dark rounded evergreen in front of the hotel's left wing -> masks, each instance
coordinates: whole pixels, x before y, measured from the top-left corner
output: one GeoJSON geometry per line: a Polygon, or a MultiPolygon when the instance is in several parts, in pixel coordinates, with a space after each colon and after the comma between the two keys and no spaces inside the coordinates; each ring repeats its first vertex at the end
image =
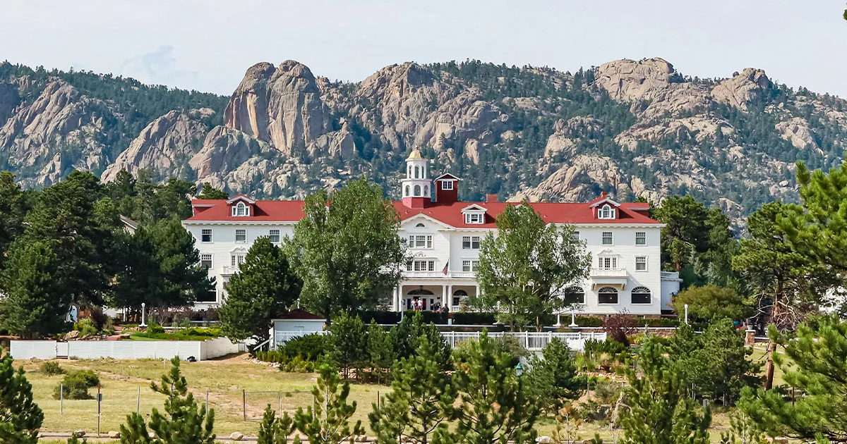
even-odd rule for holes
{"type": "Polygon", "coordinates": [[[224,335],[232,340],[252,337],[257,343],[265,342],[271,319],[294,304],[301,287],[283,251],[270,239],[258,238],[238,273],[230,277],[229,296],[218,311],[224,335]]]}

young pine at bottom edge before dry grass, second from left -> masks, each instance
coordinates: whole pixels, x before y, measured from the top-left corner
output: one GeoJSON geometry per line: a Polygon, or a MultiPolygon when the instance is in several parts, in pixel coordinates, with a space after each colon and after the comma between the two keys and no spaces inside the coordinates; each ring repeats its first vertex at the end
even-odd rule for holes
{"type": "Polygon", "coordinates": [[[165,396],[164,414],[153,408],[150,422],[145,424],[141,414],[127,415],[120,426],[121,444],[214,444],[214,410],[197,405],[188,390],[188,382],[180,372],[180,359],[171,359],[170,371],[162,375],[162,383],[152,382],[153,392],[165,396]],[[149,430],[158,438],[151,439],[149,430]]]}

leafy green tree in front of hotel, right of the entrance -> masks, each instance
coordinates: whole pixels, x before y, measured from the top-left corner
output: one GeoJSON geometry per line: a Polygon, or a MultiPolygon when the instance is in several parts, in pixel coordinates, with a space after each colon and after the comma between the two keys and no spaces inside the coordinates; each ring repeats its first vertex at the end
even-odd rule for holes
{"type": "Polygon", "coordinates": [[[543,315],[567,307],[566,288],[588,276],[590,255],[573,227],[547,224],[529,204],[506,206],[496,224],[497,236],[489,233],[479,246],[482,294],[470,304],[512,328],[540,331],[543,315]]]}

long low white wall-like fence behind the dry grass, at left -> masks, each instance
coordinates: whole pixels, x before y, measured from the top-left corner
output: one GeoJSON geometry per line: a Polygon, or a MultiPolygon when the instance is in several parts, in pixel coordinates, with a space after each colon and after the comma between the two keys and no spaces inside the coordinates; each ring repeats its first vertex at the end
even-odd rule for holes
{"type": "Polygon", "coordinates": [[[206,341],[12,341],[14,359],[56,359],[68,356],[75,359],[213,359],[240,351],[237,343],[225,337],[206,341]],[[67,350],[67,351],[65,351],[67,350]]]}

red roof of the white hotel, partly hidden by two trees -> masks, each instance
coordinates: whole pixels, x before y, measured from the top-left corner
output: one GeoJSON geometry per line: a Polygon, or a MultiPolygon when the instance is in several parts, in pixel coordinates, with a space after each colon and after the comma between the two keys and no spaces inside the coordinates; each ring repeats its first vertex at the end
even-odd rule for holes
{"type": "MultiPolygon", "coordinates": [[[[592,200],[594,202],[596,200],[592,200]]],[[[303,217],[302,200],[257,200],[249,217],[234,217],[226,200],[191,200],[194,206],[194,216],[186,219],[188,222],[297,222],[303,217]]],[[[541,215],[545,222],[552,223],[603,223],[603,224],[658,224],[646,214],[646,204],[622,203],[617,208],[617,218],[597,219],[588,203],[529,203],[541,215]]],[[[401,220],[416,217],[419,214],[432,217],[451,227],[493,228],[497,215],[508,205],[518,205],[513,202],[453,202],[439,204],[429,203],[424,208],[408,208],[402,201],[394,201],[394,207],[401,220]],[[462,208],[477,205],[485,208],[485,223],[465,223],[462,208]]]]}

